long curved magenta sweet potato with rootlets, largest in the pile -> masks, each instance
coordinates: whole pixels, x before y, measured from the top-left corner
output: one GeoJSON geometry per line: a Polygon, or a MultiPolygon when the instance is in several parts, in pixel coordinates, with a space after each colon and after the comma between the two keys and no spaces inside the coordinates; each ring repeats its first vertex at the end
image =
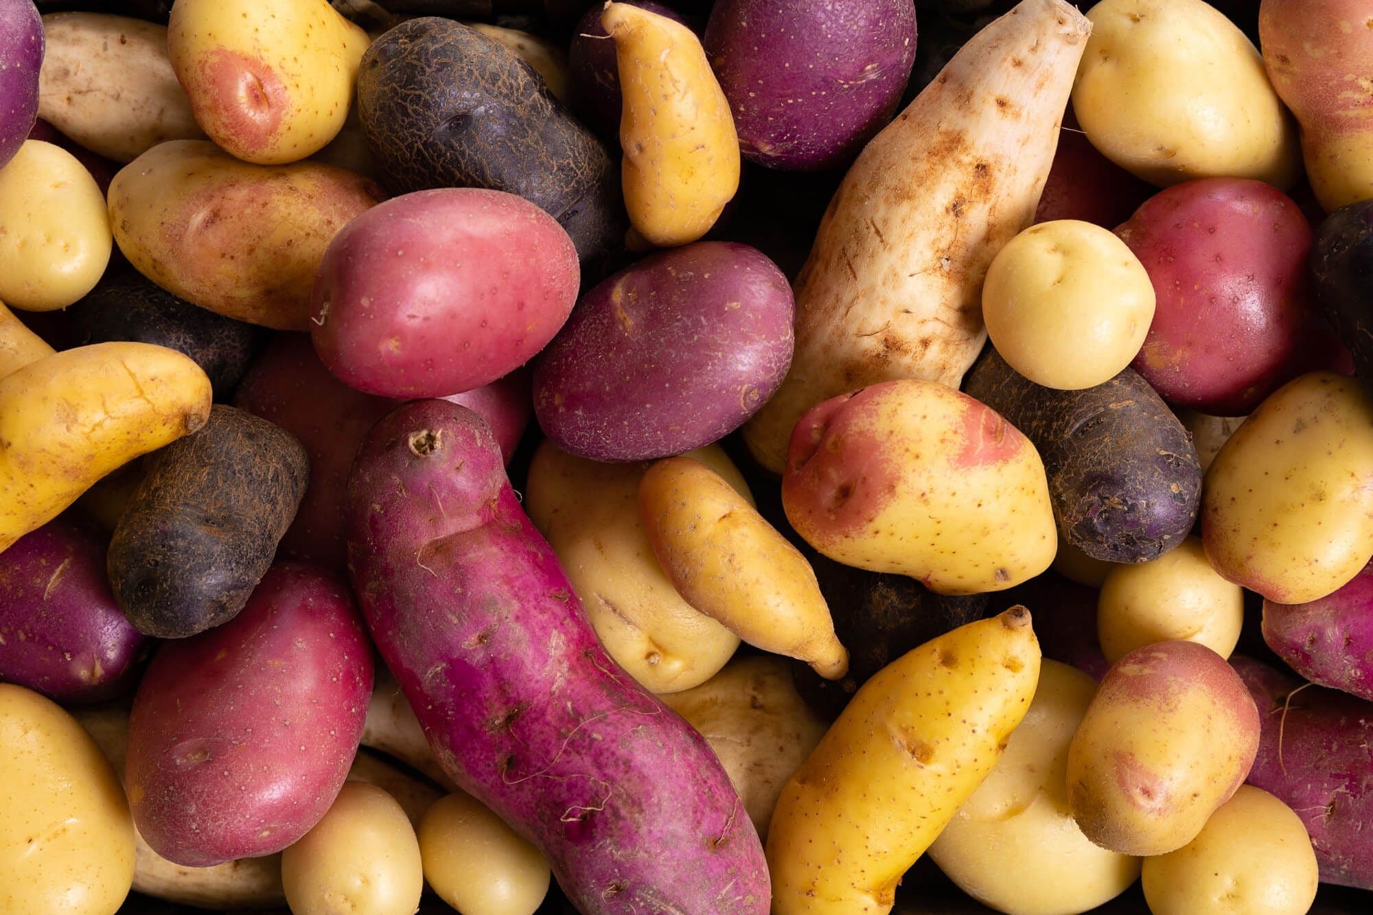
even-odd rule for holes
{"type": "Polygon", "coordinates": [[[729,778],[605,654],[476,414],[428,400],[376,425],[349,563],[439,765],[544,849],[579,911],[768,912],[729,778]]]}

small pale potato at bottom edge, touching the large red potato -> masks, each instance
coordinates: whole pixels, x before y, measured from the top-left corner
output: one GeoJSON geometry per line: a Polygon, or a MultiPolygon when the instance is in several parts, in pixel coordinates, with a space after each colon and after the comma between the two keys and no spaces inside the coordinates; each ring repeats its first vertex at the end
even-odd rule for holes
{"type": "Polygon", "coordinates": [[[424,892],[405,811],[365,782],[345,782],[328,813],[281,852],[291,915],[413,915],[424,892]]]}

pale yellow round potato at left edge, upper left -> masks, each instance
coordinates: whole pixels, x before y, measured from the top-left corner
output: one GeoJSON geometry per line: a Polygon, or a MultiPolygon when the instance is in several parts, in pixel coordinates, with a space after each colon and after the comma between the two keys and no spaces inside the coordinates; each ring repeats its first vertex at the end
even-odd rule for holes
{"type": "Polygon", "coordinates": [[[110,262],[104,195],[66,150],[25,140],[0,169],[0,300],[51,312],[95,289],[110,262]]]}

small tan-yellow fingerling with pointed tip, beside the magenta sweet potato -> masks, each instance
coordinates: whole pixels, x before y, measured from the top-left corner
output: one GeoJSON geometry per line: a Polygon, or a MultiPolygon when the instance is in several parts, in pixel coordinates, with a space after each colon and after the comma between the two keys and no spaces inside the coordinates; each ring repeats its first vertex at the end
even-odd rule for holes
{"type": "Polygon", "coordinates": [[[648,543],[677,592],[751,646],[849,672],[829,605],[800,551],[706,464],[669,458],[638,482],[648,543]]]}

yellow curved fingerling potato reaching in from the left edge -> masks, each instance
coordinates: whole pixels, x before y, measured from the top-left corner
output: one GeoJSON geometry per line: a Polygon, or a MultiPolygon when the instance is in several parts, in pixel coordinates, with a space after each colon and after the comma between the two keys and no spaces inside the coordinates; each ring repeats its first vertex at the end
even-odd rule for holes
{"type": "Polygon", "coordinates": [[[210,397],[199,365],[150,343],[78,346],[0,378],[0,551],[203,426],[210,397]]]}

